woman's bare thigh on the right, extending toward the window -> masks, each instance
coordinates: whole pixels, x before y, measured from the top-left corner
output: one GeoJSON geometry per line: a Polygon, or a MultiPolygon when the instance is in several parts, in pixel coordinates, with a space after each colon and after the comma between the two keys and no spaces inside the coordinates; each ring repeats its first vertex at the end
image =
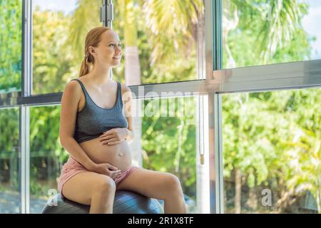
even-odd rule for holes
{"type": "Polygon", "coordinates": [[[117,190],[138,192],[146,197],[164,199],[173,191],[181,192],[178,177],[168,172],[138,168],[117,186],[117,190]]]}

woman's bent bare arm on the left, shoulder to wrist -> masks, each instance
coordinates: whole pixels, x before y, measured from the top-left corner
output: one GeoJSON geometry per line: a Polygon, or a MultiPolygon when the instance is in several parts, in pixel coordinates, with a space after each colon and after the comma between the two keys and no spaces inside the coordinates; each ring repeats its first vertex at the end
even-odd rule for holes
{"type": "Polygon", "coordinates": [[[60,115],[60,143],[77,162],[87,170],[94,170],[96,163],[93,162],[78,142],[73,138],[76,125],[78,103],[81,98],[81,86],[76,81],[70,81],[61,98],[60,115]]]}

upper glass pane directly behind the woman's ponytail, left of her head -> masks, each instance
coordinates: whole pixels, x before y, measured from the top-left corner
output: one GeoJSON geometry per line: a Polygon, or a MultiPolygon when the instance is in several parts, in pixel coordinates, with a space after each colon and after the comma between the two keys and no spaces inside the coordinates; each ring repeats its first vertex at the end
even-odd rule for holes
{"type": "Polygon", "coordinates": [[[61,92],[78,77],[86,33],[102,26],[101,2],[33,1],[33,94],[61,92]]]}

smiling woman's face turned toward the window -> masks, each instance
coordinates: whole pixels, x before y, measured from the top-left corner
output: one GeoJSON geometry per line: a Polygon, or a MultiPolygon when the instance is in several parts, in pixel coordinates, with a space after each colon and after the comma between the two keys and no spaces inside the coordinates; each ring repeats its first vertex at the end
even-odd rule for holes
{"type": "Polygon", "coordinates": [[[118,66],[121,63],[121,41],[119,40],[118,34],[109,30],[101,35],[101,41],[95,50],[95,63],[118,66]]]}

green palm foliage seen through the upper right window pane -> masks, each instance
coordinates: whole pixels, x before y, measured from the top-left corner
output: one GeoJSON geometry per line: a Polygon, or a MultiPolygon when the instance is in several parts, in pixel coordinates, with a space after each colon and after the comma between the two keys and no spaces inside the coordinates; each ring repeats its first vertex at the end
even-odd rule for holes
{"type": "MultiPolygon", "coordinates": [[[[237,28],[228,33],[228,48],[237,67],[302,61],[310,58],[312,37],[302,28],[307,4],[297,1],[231,1],[230,11],[239,15],[237,28]],[[265,9],[266,8],[266,9],[265,9]],[[265,9],[265,10],[263,10],[265,9]],[[264,19],[265,11],[271,19],[264,19]],[[290,21],[288,21],[290,20],[290,21]]],[[[228,63],[223,51],[223,68],[228,63]]]]}

